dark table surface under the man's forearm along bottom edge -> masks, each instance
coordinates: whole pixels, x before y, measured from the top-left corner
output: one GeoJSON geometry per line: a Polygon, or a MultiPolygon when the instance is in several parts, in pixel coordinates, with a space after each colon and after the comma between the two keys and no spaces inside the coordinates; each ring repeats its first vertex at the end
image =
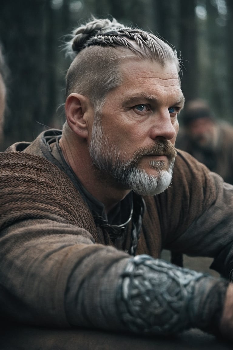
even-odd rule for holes
{"type": "Polygon", "coordinates": [[[176,337],[145,337],[80,329],[1,328],[1,350],[232,350],[225,342],[197,329],[176,337]]]}

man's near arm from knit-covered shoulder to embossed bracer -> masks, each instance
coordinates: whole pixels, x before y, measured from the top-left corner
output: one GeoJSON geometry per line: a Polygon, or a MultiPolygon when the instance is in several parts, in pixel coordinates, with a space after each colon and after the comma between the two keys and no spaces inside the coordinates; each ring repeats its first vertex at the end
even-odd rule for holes
{"type": "Polygon", "coordinates": [[[225,281],[96,244],[65,174],[36,156],[32,167],[28,155],[17,157],[10,169],[9,158],[1,163],[2,317],[155,334],[218,329],[225,281]]]}

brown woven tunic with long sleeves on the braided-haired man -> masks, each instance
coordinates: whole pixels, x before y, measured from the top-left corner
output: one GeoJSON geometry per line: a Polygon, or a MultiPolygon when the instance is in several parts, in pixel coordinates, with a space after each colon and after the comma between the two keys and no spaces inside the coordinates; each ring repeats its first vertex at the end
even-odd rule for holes
{"type": "MultiPolygon", "coordinates": [[[[41,149],[16,149],[0,153],[3,317],[63,326],[73,317],[88,327],[122,329],[115,293],[129,259],[125,247],[106,245],[73,183],[41,149]]],[[[232,186],[178,152],[171,186],[144,199],[137,254],[156,258],[165,247],[211,256],[228,275],[233,259],[222,252],[233,240],[232,186]]]]}

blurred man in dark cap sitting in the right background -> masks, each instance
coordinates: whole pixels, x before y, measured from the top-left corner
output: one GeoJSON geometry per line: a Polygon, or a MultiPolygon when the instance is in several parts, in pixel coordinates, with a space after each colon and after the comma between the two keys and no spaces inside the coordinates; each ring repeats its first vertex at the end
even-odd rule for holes
{"type": "Polygon", "coordinates": [[[225,182],[233,184],[233,127],[219,123],[205,100],[191,100],[184,111],[176,147],[190,153],[225,182]]]}

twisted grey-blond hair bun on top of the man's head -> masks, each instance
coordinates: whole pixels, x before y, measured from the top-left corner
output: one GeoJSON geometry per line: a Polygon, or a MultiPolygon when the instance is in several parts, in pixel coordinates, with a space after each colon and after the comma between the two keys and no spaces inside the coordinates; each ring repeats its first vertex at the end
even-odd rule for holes
{"type": "Polygon", "coordinates": [[[112,21],[108,19],[95,19],[80,26],[73,31],[72,39],[67,44],[68,54],[75,52],[78,54],[85,47],[85,43],[93,36],[101,35],[110,31],[118,31],[125,28],[121,23],[118,23],[115,18],[112,21]]]}

